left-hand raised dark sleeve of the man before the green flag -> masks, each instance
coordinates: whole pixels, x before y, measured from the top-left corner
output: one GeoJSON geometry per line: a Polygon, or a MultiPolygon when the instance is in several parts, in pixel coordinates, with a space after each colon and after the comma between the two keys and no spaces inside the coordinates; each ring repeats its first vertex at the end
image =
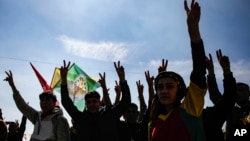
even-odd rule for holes
{"type": "Polygon", "coordinates": [[[72,100],[69,97],[69,91],[67,85],[61,85],[61,101],[65,110],[69,113],[71,118],[79,122],[81,118],[81,112],[78,111],[76,106],[73,104],[72,100]]]}

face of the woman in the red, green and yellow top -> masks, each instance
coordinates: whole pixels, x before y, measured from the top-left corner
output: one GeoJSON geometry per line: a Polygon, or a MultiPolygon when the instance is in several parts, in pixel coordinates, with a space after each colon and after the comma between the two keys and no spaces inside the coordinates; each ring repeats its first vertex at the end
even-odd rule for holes
{"type": "Polygon", "coordinates": [[[177,99],[178,84],[175,79],[161,78],[157,84],[157,96],[161,104],[172,105],[177,99]]]}

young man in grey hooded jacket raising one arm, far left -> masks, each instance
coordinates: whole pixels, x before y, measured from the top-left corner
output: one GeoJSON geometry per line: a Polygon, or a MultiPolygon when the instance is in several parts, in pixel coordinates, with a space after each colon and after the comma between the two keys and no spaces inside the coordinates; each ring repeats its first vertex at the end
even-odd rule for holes
{"type": "Polygon", "coordinates": [[[68,121],[63,116],[62,109],[56,106],[57,98],[53,92],[42,92],[39,95],[41,111],[35,110],[24,101],[17,90],[12,72],[5,73],[7,77],[4,80],[12,89],[17,108],[34,124],[31,141],[70,141],[68,121]]]}

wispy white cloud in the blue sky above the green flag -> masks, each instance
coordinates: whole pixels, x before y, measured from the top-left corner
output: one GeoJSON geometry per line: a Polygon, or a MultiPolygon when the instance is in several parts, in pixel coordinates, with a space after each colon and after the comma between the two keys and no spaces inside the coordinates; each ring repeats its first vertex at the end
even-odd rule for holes
{"type": "Polygon", "coordinates": [[[126,43],[80,41],[66,35],[61,35],[58,39],[69,53],[102,61],[124,60],[129,53],[128,47],[131,46],[126,43]]]}

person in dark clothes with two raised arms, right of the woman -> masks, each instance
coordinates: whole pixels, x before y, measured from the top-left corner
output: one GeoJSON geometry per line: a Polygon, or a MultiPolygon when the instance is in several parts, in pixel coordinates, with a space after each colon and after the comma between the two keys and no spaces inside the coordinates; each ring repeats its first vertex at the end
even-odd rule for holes
{"type": "Polygon", "coordinates": [[[209,54],[209,57],[206,59],[208,92],[211,101],[214,101],[216,104],[206,107],[203,110],[204,133],[207,141],[225,141],[222,127],[230,116],[236,98],[236,80],[231,72],[229,57],[222,55],[221,50],[217,50],[216,55],[223,70],[224,94],[221,95],[218,89],[213,58],[212,55],[209,54]]]}

